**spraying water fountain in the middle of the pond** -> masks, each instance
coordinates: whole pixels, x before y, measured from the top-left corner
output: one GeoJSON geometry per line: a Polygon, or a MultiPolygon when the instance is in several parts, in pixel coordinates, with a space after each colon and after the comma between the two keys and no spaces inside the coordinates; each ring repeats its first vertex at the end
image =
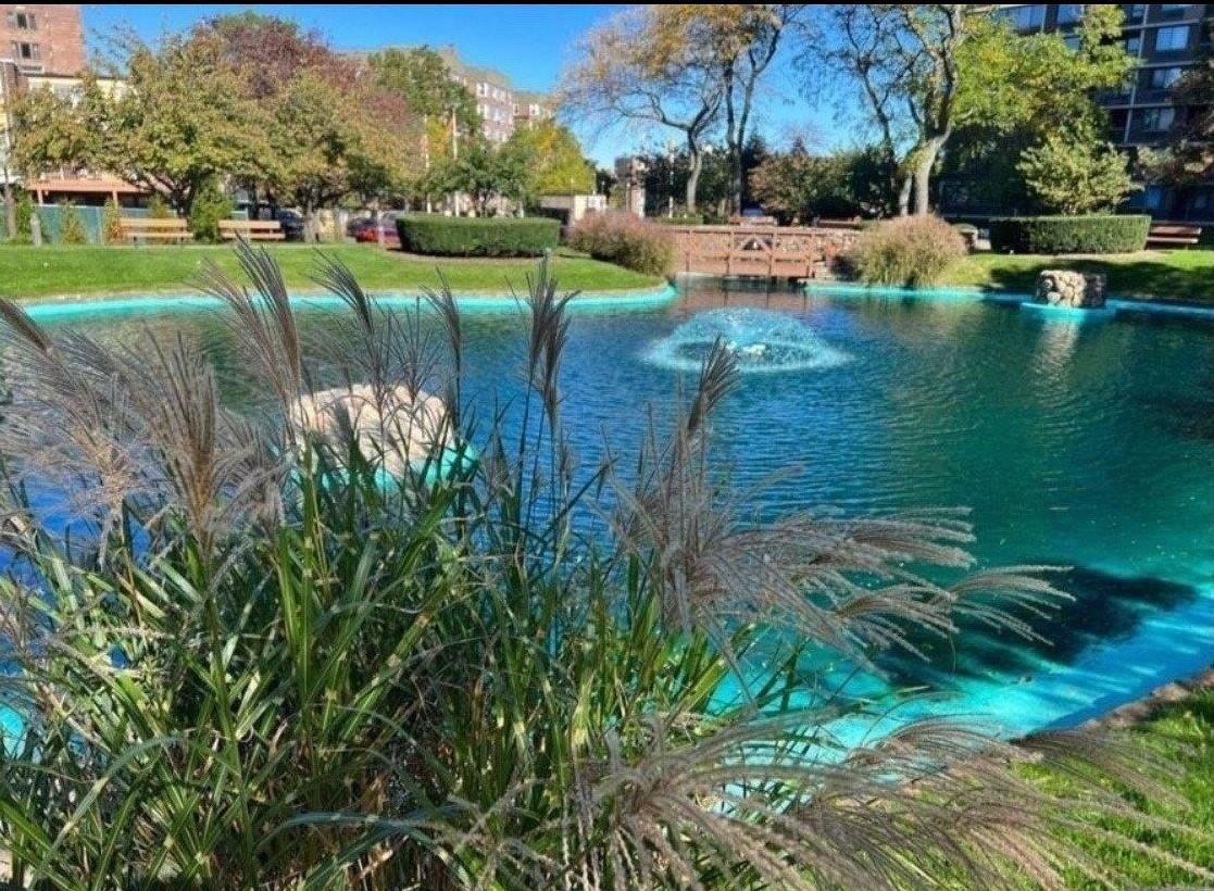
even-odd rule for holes
{"type": "Polygon", "coordinates": [[[733,353],[743,374],[834,368],[851,358],[800,319],[753,307],[698,313],[654,342],[645,358],[676,371],[698,371],[717,340],[733,353]]]}

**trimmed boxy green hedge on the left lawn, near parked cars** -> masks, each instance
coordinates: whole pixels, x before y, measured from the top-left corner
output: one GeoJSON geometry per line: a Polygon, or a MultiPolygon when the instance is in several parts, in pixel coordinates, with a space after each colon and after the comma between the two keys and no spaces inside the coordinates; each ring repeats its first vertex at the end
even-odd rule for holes
{"type": "Polygon", "coordinates": [[[539,256],[561,238],[561,223],[539,216],[402,216],[396,231],[413,254],[465,257],[539,256]]]}

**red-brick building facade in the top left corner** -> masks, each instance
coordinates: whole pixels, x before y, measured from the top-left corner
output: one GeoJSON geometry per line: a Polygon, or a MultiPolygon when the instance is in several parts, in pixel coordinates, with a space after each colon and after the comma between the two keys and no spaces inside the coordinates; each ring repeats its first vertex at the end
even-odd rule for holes
{"type": "Polygon", "coordinates": [[[80,7],[0,4],[0,61],[23,74],[79,74],[85,67],[80,7]]]}

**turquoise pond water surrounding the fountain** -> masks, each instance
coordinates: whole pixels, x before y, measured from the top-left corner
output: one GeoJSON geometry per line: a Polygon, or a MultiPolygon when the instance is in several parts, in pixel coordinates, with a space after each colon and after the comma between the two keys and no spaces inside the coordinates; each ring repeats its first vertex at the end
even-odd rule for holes
{"type": "MultiPolygon", "coordinates": [[[[522,337],[517,313],[469,307],[465,395],[484,405],[517,392],[522,337]]],[[[646,405],[669,416],[708,334],[724,327],[756,373],[716,418],[720,470],[747,487],[798,469],[764,490],[762,512],[966,505],[983,564],[1071,567],[1056,581],[1076,600],[1039,628],[1048,646],[977,636],[942,649],[931,680],[955,696],[918,708],[1020,733],[1077,723],[1214,662],[1214,319],[711,280],[583,308],[561,381],[583,466],[605,441],[635,447],[646,405]],[[768,341],[747,337],[755,325],[768,341]]],[[[103,339],[186,329],[227,369],[229,398],[254,399],[205,301],[39,314],[103,339]]],[[[333,310],[301,316],[322,334],[333,310]]],[[[896,679],[902,668],[891,665],[896,679]]],[[[923,675],[917,665],[904,679],[923,675]]]]}

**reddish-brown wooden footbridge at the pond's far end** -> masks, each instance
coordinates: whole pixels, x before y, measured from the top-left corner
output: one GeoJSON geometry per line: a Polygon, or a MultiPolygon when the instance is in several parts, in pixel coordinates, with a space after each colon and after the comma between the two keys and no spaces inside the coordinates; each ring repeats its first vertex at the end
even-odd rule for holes
{"type": "Polygon", "coordinates": [[[673,226],[679,272],[760,278],[829,278],[855,228],[673,226]]]}

